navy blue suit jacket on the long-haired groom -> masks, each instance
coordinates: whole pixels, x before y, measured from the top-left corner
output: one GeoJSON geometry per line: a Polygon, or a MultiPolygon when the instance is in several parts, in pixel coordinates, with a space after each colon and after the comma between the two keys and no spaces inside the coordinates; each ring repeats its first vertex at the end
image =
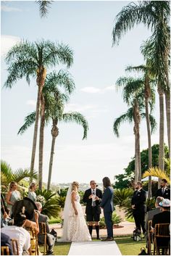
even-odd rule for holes
{"type": "Polygon", "coordinates": [[[107,189],[104,190],[104,194],[102,196],[101,204],[100,204],[100,206],[104,208],[104,212],[113,212],[114,210],[113,198],[114,198],[114,190],[112,189],[112,186],[108,186],[107,189]]]}

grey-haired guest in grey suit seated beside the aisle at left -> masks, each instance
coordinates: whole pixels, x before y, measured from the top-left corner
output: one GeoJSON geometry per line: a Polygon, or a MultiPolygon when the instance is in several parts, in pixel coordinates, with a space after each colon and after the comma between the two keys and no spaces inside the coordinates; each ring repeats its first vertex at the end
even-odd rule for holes
{"type": "MultiPolygon", "coordinates": [[[[53,253],[53,249],[54,249],[54,242],[55,242],[55,237],[52,235],[52,234],[49,234],[50,232],[50,229],[49,229],[49,218],[48,216],[46,215],[43,215],[41,214],[41,210],[42,210],[42,205],[41,205],[41,202],[36,202],[36,207],[38,208],[38,223],[46,223],[46,232],[47,232],[47,244],[48,244],[48,254],[51,254],[53,253]]],[[[43,244],[44,243],[44,240],[43,240],[43,235],[41,234],[38,234],[38,242],[40,244],[43,244]]]]}

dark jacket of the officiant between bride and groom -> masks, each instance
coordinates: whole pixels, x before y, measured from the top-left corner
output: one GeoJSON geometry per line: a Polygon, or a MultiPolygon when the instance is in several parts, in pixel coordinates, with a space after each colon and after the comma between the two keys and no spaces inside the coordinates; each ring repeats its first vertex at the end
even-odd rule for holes
{"type": "MultiPolygon", "coordinates": [[[[87,189],[83,195],[83,202],[86,202],[86,214],[91,215],[92,214],[92,199],[89,199],[88,197],[91,195],[91,189],[87,189]]],[[[100,189],[96,189],[96,196],[100,199],[102,198],[102,191],[100,189]]],[[[101,214],[100,209],[100,200],[96,200],[96,213],[101,214]]]]}

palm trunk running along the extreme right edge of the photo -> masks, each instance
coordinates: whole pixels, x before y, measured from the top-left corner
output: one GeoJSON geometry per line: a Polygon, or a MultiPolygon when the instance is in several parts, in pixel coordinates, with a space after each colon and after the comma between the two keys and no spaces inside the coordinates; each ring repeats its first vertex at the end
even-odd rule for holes
{"type": "Polygon", "coordinates": [[[167,117],[167,139],[168,139],[169,157],[170,157],[170,91],[165,92],[165,105],[166,105],[166,117],[167,117]]]}

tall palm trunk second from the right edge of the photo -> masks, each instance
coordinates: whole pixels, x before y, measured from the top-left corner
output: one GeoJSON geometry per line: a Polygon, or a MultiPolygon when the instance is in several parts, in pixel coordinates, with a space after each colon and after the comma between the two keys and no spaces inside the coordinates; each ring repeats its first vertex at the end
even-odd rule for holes
{"type": "MultiPolygon", "coordinates": [[[[158,85],[159,93],[159,169],[164,170],[164,94],[158,85]]],[[[160,182],[160,180],[159,180],[160,182]]],[[[160,184],[158,182],[158,187],[160,184]]]]}

